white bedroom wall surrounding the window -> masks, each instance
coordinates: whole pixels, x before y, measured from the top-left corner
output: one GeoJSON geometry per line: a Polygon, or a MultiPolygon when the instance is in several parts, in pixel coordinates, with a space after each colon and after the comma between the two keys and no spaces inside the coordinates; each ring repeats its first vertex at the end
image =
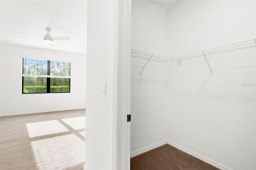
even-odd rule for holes
{"type": "Polygon", "coordinates": [[[1,43],[1,116],[86,107],[86,55],[1,43]],[[70,93],[22,94],[22,56],[71,63],[70,93]]]}

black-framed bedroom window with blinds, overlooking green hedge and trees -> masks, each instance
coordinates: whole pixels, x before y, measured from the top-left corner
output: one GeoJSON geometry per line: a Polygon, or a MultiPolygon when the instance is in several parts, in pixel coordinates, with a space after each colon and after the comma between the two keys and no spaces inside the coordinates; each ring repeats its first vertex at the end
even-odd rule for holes
{"type": "Polygon", "coordinates": [[[70,63],[22,58],[22,94],[69,92],[70,63]]]}

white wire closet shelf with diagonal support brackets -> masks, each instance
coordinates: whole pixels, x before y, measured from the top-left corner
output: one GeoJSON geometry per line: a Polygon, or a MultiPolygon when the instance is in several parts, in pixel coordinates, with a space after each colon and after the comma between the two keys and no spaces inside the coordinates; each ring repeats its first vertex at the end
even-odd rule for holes
{"type": "Polygon", "coordinates": [[[154,53],[148,53],[145,51],[131,49],[131,57],[147,59],[144,67],[140,71],[140,75],[150,60],[166,62],[166,63],[173,62],[173,61],[181,63],[181,60],[183,60],[183,59],[189,59],[189,58],[194,58],[194,57],[204,57],[209,68],[210,68],[210,71],[212,73],[212,68],[210,67],[210,63],[208,62],[206,55],[222,53],[222,52],[227,52],[227,51],[233,51],[233,50],[238,50],[238,49],[244,49],[244,48],[250,48],[250,47],[256,47],[256,39],[247,40],[247,41],[238,42],[238,43],[232,43],[229,45],[224,45],[224,46],[220,46],[220,47],[197,51],[194,53],[179,55],[176,57],[167,57],[164,55],[158,55],[158,54],[154,54],[154,53]]]}

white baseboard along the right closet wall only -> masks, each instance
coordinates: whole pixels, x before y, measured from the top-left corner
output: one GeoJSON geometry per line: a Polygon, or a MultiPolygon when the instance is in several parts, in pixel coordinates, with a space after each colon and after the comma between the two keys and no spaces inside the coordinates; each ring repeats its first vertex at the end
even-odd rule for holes
{"type": "Polygon", "coordinates": [[[186,152],[187,154],[190,154],[190,155],[192,155],[192,156],[194,156],[194,157],[196,157],[196,158],[198,158],[198,159],[200,159],[200,160],[202,160],[202,161],[204,161],[208,164],[211,164],[212,166],[215,166],[216,168],[219,168],[221,170],[232,170],[231,168],[228,168],[227,166],[224,166],[224,165],[222,165],[218,162],[215,162],[214,160],[211,160],[210,158],[206,158],[205,156],[202,156],[202,155],[200,155],[200,154],[198,154],[198,153],[196,153],[196,152],[194,152],[194,151],[192,151],[188,148],[185,148],[185,147],[183,147],[179,144],[176,144],[176,143],[174,143],[170,140],[167,140],[167,144],[173,146],[174,148],[182,150],[183,152],[186,152]]]}

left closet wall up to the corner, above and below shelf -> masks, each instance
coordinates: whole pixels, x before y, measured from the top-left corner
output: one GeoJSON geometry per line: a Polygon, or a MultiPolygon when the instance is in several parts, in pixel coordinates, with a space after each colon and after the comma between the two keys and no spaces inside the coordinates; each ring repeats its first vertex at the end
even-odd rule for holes
{"type": "MultiPolygon", "coordinates": [[[[166,55],[167,11],[148,1],[132,1],[131,33],[132,49],[166,55]]],[[[162,63],[150,61],[140,76],[145,63],[131,58],[131,152],[166,140],[166,75],[162,63]]]]}

